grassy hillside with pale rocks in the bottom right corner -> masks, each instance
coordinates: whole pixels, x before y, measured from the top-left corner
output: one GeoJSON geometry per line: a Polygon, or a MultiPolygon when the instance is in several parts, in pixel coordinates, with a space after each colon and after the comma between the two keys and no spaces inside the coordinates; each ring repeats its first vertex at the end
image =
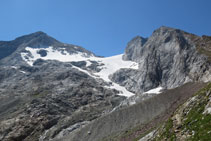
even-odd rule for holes
{"type": "Polygon", "coordinates": [[[211,84],[181,105],[151,140],[211,139],[211,84]]]}

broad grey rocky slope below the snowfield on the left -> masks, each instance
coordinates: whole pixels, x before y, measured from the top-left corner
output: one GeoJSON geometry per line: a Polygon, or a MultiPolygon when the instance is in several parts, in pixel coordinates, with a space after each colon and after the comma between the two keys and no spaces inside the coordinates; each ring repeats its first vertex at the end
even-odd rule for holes
{"type": "Polygon", "coordinates": [[[125,99],[70,63],[44,61],[34,67],[1,68],[0,75],[0,140],[5,141],[49,140],[74,124],[111,111],[125,99]]]}

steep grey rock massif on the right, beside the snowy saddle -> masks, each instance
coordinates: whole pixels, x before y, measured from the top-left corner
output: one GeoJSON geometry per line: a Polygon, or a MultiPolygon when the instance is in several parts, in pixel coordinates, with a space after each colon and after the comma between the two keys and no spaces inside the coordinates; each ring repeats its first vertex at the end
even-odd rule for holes
{"type": "Polygon", "coordinates": [[[191,81],[210,81],[209,54],[199,51],[209,49],[209,43],[204,42],[204,48],[199,46],[196,41],[201,38],[205,37],[168,27],[155,30],[148,39],[136,37],[123,58],[138,62],[139,71],[122,69],[111,79],[136,93],[158,86],[169,89],[191,81]]]}

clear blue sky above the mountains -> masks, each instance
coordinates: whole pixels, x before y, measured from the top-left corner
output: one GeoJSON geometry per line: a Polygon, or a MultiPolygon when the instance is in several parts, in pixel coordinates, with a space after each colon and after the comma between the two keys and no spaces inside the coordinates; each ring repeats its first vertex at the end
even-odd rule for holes
{"type": "Polygon", "coordinates": [[[0,40],[44,31],[97,55],[165,25],[211,35],[211,0],[0,0],[0,40]]]}

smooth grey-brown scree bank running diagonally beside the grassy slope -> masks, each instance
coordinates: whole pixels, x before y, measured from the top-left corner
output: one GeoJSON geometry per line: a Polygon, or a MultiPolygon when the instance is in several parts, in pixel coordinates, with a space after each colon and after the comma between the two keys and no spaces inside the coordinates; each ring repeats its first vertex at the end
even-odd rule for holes
{"type": "Polygon", "coordinates": [[[202,83],[189,83],[135,105],[120,108],[89,123],[62,140],[133,140],[139,134],[145,133],[147,130],[155,128],[160,122],[165,121],[180,104],[203,86],[202,83]]]}

